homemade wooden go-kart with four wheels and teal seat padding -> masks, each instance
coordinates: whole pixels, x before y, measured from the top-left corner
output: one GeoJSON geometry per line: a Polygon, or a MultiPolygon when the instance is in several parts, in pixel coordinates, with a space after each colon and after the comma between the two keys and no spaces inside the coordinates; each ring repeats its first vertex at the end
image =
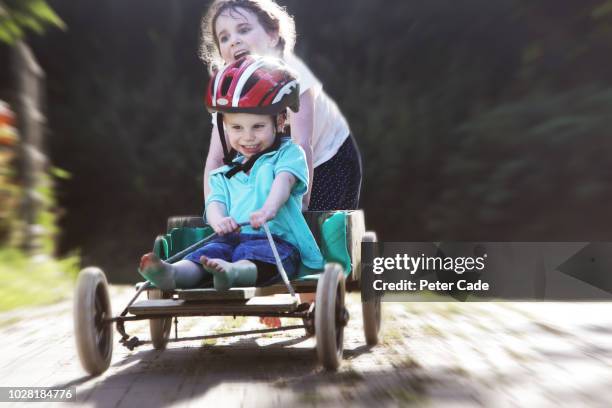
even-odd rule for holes
{"type": "MultiPolygon", "coordinates": [[[[368,345],[378,343],[381,312],[380,297],[366,300],[361,287],[362,242],[377,242],[374,232],[365,231],[363,211],[306,212],[306,221],[319,244],[326,264],[323,271],[301,271],[298,279],[289,282],[280,264],[284,284],[267,287],[176,289],[160,291],[149,282],[136,285],[137,292],[119,316],[112,316],[108,283],[104,272],[88,267],[79,273],[74,301],[74,323],[77,350],[81,364],[92,375],[104,372],[111,361],[113,349],[112,325],[121,335],[120,343],[133,350],[145,344],[125,330],[125,322],[149,320],[151,343],[163,350],[168,341],[222,337],[228,334],[178,338],[177,318],[186,316],[262,316],[301,318],[303,326],[237,332],[229,335],[265,333],[276,330],[304,328],[316,336],[319,362],[328,370],[340,365],[344,327],[349,320],[345,307],[345,292],[361,291],[363,330],[368,345]],[[136,302],[146,291],[148,300],[136,302]],[[316,291],[314,304],[300,303],[296,293],[316,291]],[[286,296],[271,296],[277,294],[286,296]],[[170,340],[172,319],[175,339],[170,340]]],[[[269,231],[264,228],[267,233],[269,231]]],[[[155,239],[153,252],[172,263],[202,246],[215,234],[202,217],[171,217],[165,235],[155,239]]],[[[270,238],[270,236],[269,236],[270,238]]],[[[273,242],[269,239],[273,252],[273,242]]],[[[364,246],[375,250],[376,246],[364,246]]],[[[278,261],[278,257],[277,257],[278,261]]]]}

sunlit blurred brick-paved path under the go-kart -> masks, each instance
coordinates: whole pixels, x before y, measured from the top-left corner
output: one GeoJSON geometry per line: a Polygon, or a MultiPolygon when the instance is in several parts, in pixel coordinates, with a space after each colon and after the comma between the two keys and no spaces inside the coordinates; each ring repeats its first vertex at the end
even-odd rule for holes
{"type": "MultiPolygon", "coordinates": [[[[117,313],[133,292],[112,293],[117,313]]],[[[75,385],[79,406],[89,407],[610,406],[611,303],[387,303],[385,338],[373,349],[364,346],[356,298],[349,310],[338,373],[321,372],[313,339],[295,330],[171,343],[163,352],[115,344],[110,369],[96,378],[78,362],[69,301],[0,314],[0,384],[75,385]]],[[[145,322],[127,328],[148,338],[145,322]]],[[[183,336],[229,328],[261,326],[256,318],[179,320],[183,336]]]]}

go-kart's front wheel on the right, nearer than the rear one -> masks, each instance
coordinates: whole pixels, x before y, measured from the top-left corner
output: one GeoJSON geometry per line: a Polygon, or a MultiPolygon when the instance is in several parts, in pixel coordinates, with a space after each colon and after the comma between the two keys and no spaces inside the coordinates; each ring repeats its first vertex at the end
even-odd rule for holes
{"type": "Polygon", "coordinates": [[[336,370],[342,360],[344,326],[348,322],[344,292],[342,266],[326,264],[317,284],[315,335],[319,362],[327,370],[336,370]]]}

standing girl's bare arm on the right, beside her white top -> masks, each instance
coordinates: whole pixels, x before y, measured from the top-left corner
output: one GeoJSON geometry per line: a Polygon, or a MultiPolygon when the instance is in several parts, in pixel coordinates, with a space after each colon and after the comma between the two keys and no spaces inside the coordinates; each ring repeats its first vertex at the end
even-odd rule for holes
{"type": "MultiPolygon", "coordinates": [[[[307,210],[310,203],[310,191],[313,179],[312,167],[312,137],[314,133],[314,94],[312,88],[300,95],[300,111],[291,112],[291,138],[299,144],[306,153],[308,166],[308,191],[302,199],[302,209],[307,210]]],[[[217,136],[218,137],[218,136],[217,136]]]]}

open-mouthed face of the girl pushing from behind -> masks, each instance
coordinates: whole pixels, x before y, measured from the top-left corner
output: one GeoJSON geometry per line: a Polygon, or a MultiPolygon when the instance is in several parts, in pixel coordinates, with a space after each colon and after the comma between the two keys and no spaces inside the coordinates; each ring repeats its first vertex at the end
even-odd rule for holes
{"type": "Polygon", "coordinates": [[[268,33],[257,16],[242,7],[228,9],[215,21],[219,52],[226,64],[248,54],[275,55],[278,33],[268,33]]]}

